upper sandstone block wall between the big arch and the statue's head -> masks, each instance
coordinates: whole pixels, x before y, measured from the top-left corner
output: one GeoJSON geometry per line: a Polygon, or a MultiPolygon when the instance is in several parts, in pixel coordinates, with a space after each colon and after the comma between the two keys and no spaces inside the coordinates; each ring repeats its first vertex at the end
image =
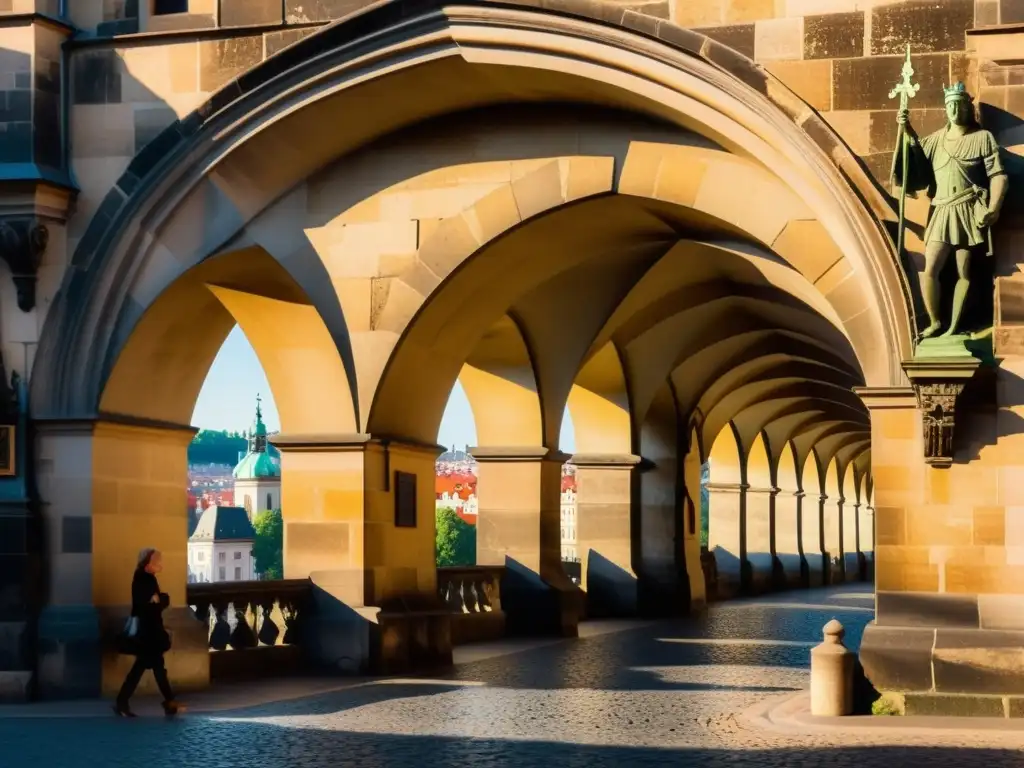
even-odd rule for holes
{"type": "Polygon", "coordinates": [[[677,0],[670,18],[785,83],[888,186],[898,105],[889,90],[906,43],[922,85],[911,120],[924,135],[942,126],[942,85],[963,80],[978,95],[967,31],[1021,20],[1021,13],[1024,5],[1010,0],[677,0]]]}

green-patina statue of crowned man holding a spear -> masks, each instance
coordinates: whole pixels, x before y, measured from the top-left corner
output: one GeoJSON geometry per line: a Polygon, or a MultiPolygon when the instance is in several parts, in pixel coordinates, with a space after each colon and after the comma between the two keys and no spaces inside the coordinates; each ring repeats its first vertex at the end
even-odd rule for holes
{"type": "Polygon", "coordinates": [[[948,122],[924,138],[919,138],[910,125],[903,100],[897,123],[905,139],[897,143],[893,157],[893,182],[903,187],[904,194],[925,191],[931,199],[921,275],[929,326],[922,339],[935,336],[944,325],[939,275],[950,254],[956,259],[957,281],[942,336],[956,335],[971,286],[971,256],[982,250],[992,255],[991,228],[1008,189],[999,146],[992,134],[978,125],[967,88],[954,83],[943,86],[943,94],[948,122]]]}

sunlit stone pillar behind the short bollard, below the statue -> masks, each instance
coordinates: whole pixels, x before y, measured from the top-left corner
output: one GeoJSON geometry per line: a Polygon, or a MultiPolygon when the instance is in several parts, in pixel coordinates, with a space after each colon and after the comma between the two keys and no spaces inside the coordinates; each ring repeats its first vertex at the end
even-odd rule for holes
{"type": "Polygon", "coordinates": [[[1005,359],[993,373],[994,386],[972,382],[967,401],[943,408],[953,439],[937,446],[925,439],[936,426],[923,412],[937,411],[927,393],[860,391],[871,418],[877,526],[876,618],[860,658],[880,691],[903,694],[908,715],[1024,711],[1024,566],[1016,554],[1024,545],[1024,430],[1014,404],[1024,402],[1024,362],[1005,359]]]}

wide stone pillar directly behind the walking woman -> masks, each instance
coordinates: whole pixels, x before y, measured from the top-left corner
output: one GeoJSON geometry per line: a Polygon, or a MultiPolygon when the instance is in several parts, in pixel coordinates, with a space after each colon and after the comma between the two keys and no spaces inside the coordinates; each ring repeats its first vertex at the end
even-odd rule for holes
{"type": "MultiPolygon", "coordinates": [[[[207,627],[185,603],[187,446],[195,430],[131,419],[37,423],[37,478],[48,595],[39,621],[43,697],[112,695],[132,659],[106,641],[131,608],[139,550],[164,554],[171,683],[209,684],[207,627]]],[[[140,690],[155,689],[151,676],[140,690]]]]}

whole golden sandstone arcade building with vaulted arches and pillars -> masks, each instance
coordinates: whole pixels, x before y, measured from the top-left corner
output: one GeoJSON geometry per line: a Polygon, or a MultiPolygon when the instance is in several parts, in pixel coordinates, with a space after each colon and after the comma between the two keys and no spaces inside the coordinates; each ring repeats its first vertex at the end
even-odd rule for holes
{"type": "Polygon", "coordinates": [[[238,324],[326,663],[451,653],[432,485],[458,379],[510,625],[873,572],[880,689],[1017,712],[1024,19],[866,5],[0,0],[3,695],[116,684],[102,640],[142,546],[167,554],[172,677],[208,684],[183,479],[238,324]],[[958,356],[915,342],[927,197],[895,246],[907,40],[921,135],[962,81],[1006,147],[958,356]],[[566,406],[582,589],[559,556],[566,406]]]}

